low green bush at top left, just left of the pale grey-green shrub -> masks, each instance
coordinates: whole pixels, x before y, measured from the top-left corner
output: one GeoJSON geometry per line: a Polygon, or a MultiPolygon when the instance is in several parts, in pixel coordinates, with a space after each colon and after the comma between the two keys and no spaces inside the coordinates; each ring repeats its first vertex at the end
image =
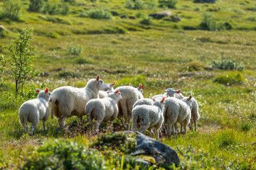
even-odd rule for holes
{"type": "Polygon", "coordinates": [[[42,9],[43,13],[49,14],[49,15],[57,15],[61,14],[63,16],[68,15],[70,13],[70,8],[67,4],[53,4],[50,2],[47,2],[42,9]]]}

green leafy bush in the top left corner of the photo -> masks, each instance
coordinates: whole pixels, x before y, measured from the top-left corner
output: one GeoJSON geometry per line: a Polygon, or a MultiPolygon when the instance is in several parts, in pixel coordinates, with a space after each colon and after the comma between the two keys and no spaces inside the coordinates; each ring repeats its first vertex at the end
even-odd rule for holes
{"type": "Polygon", "coordinates": [[[8,18],[11,21],[18,21],[21,12],[21,6],[18,1],[4,0],[4,8],[1,11],[0,18],[8,18]]]}

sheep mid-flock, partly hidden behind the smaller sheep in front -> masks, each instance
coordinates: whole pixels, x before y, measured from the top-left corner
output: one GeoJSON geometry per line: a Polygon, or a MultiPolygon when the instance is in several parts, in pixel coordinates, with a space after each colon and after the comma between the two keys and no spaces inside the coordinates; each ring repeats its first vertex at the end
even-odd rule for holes
{"type": "Polygon", "coordinates": [[[136,101],[141,98],[144,98],[142,95],[143,92],[142,84],[139,84],[138,88],[132,86],[119,86],[116,90],[119,90],[122,94],[122,101],[118,102],[118,116],[124,125],[126,130],[130,129],[130,123],[132,119],[132,107],[136,101]]]}

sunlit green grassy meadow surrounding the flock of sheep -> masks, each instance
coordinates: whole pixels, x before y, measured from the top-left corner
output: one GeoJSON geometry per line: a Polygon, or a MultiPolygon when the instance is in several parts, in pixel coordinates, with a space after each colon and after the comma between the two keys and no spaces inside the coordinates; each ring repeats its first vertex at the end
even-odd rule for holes
{"type": "MultiPolygon", "coordinates": [[[[256,1],[178,0],[175,8],[160,7],[154,0],[137,1],[142,4],[139,9],[126,0],[49,0],[65,6],[54,13],[46,7],[29,11],[30,1],[21,0],[15,1],[21,7],[16,19],[4,17],[5,4],[0,1],[0,26],[5,28],[0,29],[0,56],[9,56],[4,46],[16,40],[19,31],[33,28],[32,63],[41,72],[18,96],[9,64],[0,74],[0,169],[21,169],[44,142],[72,141],[88,147],[95,138],[86,130],[72,129],[78,118],[67,119],[64,130],[49,118],[46,132],[40,123],[29,136],[23,134],[18,108],[36,98],[35,88],[84,87],[97,74],[105,83],[117,81],[115,87],[142,83],[144,98],[169,87],[196,98],[198,132],[161,138],[181,159],[180,166],[170,169],[256,169],[256,1]],[[181,21],[149,18],[149,13],[163,9],[181,21]],[[127,18],[120,18],[124,15],[127,18]],[[228,61],[242,69],[225,67],[228,61]]],[[[79,125],[86,129],[85,117],[84,121],[79,125]]],[[[105,159],[106,169],[123,169],[122,162],[105,159]]]]}

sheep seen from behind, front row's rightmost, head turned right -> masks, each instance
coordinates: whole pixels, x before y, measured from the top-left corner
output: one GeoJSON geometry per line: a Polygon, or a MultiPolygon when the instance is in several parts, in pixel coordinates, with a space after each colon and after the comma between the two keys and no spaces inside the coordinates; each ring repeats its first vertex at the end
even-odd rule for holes
{"type": "Polygon", "coordinates": [[[192,96],[183,98],[182,100],[174,97],[166,98],[164,106],[164,121],[168,135],[171,135],[171,129],[174,132],[174,126],[176,128],[174,134],[176,134],[176,123],[181,123],[184,128],[184,133],[186,134],[187,125],[191,119],[191,98],[192,96]]]}

